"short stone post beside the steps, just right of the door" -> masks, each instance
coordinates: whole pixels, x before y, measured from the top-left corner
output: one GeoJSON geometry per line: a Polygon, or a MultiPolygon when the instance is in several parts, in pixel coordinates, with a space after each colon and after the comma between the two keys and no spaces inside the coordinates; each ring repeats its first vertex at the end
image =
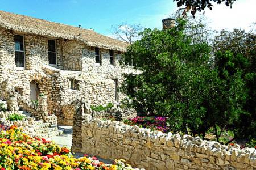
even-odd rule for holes
{"type": "Polygon", "coordinates": [[[38,96],[38,111],[39,111],[38,118],[43,119],[44,122],[48,122],[49,117],[48,117],[48,111],[47,111],[47,96],[46,95],[38,96]]]}

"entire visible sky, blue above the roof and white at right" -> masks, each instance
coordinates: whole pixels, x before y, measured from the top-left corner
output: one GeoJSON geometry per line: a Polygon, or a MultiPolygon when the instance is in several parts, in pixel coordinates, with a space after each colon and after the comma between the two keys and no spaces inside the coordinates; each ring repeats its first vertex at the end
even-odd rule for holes
{"type": "MultiPolygon", "coordinates": [[[[213,29],[241,27],[249,30],[256,22],[255,0],[235,1],[232,10],[214,4],[205,16],[213,29]]],[[[161,28],[162,19],[177,10],[172,0],[0,0],[0,10],[78,27],[93,28],[111,35],[112,24],[140,23],[144,28],[161,28]]]]}

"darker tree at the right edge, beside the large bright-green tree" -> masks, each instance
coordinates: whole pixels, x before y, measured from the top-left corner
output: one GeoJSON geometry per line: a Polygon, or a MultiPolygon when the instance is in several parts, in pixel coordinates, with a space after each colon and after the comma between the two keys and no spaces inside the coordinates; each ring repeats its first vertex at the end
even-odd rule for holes
{"type": "Polygon", "coordinates": [[[234,139],[256,138],[255,34],[240,29],[221,31],[213,41],[215,67],[221,79],[223,107],[229,115],[226,129],[234,139]]]}

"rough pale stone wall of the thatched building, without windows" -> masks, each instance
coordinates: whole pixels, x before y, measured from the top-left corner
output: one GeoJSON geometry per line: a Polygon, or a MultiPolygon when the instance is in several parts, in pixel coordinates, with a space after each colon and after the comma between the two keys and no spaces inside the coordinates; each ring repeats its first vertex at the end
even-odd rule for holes
{"type": "MultiPolygon", "coordinates": [[[[16,88],[29,99],[30,83],[38,84],[39,93],[47,95],[48,112],[64,118],[63,107],[77,99],[84,98],[90,105],[115,103],[115,82],[120,84],[122,73],[133,71],[123,69],[114,52],[114,65],[110,65],[108,49],[100,49],[101,65],[95,63],[94,48],[80,41],[56,40],[57,68],[48,66],[48,39],[38,35],[24,34],[25,68],[15,66],[15,32],[0,28],[0,87],[16,88]],[[60,70],[63,69],[63,70],[60,70]],[[69,88],[74,79],[75,90],[69,88]],[[7,83],[5,83],[7,82],[7,83]]],[[[0,98],[7,100],[4,90],[0,98]]],[[[119,101],[123,95],[118,92],[119,101]]]]}

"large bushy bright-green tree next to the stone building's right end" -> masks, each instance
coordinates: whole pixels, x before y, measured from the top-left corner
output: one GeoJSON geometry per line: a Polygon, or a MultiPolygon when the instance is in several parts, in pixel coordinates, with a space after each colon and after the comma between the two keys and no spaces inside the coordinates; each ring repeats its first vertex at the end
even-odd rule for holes
{"type": "Polygon", "coordinates": [[[178,19],[171,29],[145,29],[123,57],[141,74],[125,75],[121,90],[139,112],[169,117],[174,131],[189,128],[188,133],[204,135],[217,120],[211,113],[218,111],[209,104],[219,86],[217,72],[210,70],[209,46],[192,43],[185,27],[178,19]]]}

